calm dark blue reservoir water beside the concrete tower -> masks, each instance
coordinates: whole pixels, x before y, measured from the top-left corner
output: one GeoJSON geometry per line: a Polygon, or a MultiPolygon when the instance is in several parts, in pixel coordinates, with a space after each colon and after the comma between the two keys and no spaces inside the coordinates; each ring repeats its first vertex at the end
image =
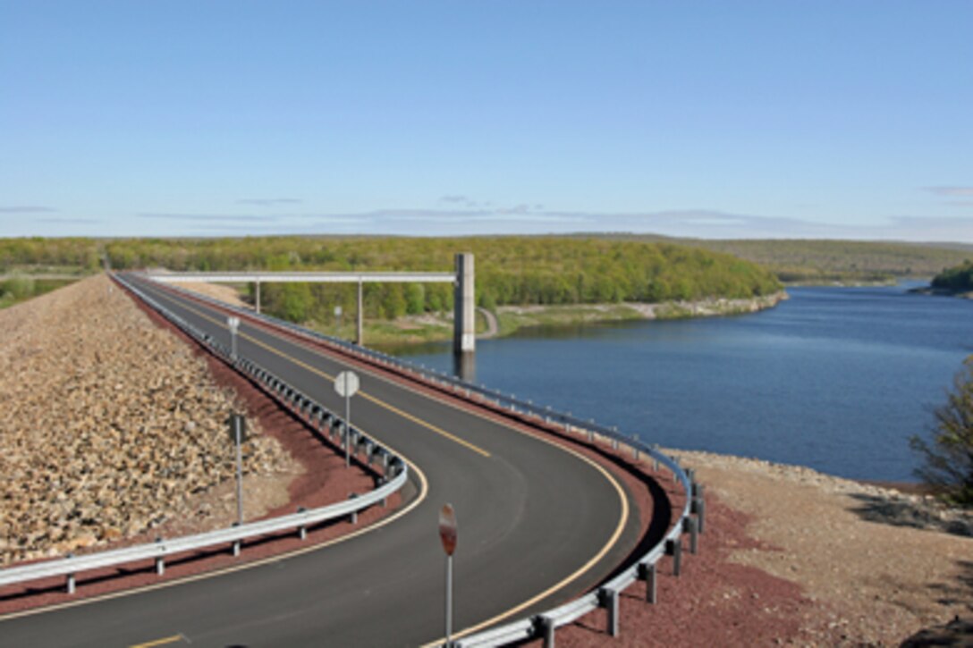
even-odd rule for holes
{"type": "MultiPolygon", "coordinates": [[[[535,329],[478,342],[476,378],[664,446],[914,481],[908,437],[973,353],[973,303],[908,287],[793,288],[752,315],[535,329]]],[[[452,368],[446,344],[410,359],[452,368]]]]}

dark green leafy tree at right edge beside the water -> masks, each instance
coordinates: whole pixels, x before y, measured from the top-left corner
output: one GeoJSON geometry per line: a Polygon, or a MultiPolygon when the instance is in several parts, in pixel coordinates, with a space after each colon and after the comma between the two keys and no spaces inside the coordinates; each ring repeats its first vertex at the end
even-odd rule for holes
{"type": "Polygon", "coordinates": [[[916,475],[949,502],[973,505],[973,357],[954,378],[953,391],[934,412],[928,438],[910,439],[922,456],[916,475]]]}

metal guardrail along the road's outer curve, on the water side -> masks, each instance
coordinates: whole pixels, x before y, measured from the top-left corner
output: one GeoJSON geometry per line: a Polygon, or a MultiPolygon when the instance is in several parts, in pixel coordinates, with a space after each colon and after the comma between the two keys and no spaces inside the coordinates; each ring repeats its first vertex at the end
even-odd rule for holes
{"type": "Polygon", "coordinates": [[[562,426],[567,433],[586,435],[590,443],[594,444],[598,440],[597,438],[601,437],[609,441],[614,450],[619,450],[620,446],[625,444],[631,448],[635,460],[638,460],[642,454],[645,454],[652,459],[653,471],[658,472],[661,466],[665,467],[671,473],[673,480],[682,486],[686,501],[679,518],[672,525],[672,528],[669,529],[666,536],[646,552],[643,557],[638,558],[631,564],[630,567],[606,583],[598,586],[592,592],[584,594],[557,608],[534,615],[529,619],[522,619],[504,626],[453,640],[451,645],[454,648],[503,646],[532,638],[542,638],[544,645],[547,648],[551,648],[555,645],[555,630],[573,623],[585,614],[601,607],[606,608],[608,612],[608,627],[606,629],[608,634],[617,636],[619,633],[620,616],[619,594],[629,588],[632,583],[644,581],[646,588],[645,600],[649,603],[655,603],[657,601],[656,583],[659,561],[665,556],[671,556],[673,574],[676,576],[680,574],[683,551],[682,535],[684,533],[688,533],[690,536],[690,553],[695,554],[699,550],[699,534],[703,533],[705,522],[703,486],[696,483],[695,474],[691,469],[684,470],[675,458],[661,452],[658,446],[648,446],[639,441],[638,435],[626,436],[614,427],[609,428],[598,425],[594,419],[583,420],[572,416],[570,413],[559,413],[551,407],[541,407],[534,405],[531,401],[520,400],[514,394],[503,394],[502,392],[489,389],[483,384],[474,384],[461,378],[455,378],[448,374],[437,372],[425,366],[416,366],[394,356],[381,353],[380,351],[310,331],[304,327],[270,317],[269,315],[238,306],[230,306],[225,302],[220,302],[219,300],[175,286],[168,286],[167,288],[183,293],[193,299],[237,312],[247,318],[263,320],[271,326],[287,329],[299,337],[339,346],[348,354],[367,359],[379,366],[397,369],[400,372],[412,375],[414,378],[431,383],[440,389],[459,392],[467,398],[475,394],[480,399],[483,399],[483,401],[486,401],[487,405],[492,405],[509,414],[534,417],[538,422],[543,422],[547,425],[562,426]]]}

